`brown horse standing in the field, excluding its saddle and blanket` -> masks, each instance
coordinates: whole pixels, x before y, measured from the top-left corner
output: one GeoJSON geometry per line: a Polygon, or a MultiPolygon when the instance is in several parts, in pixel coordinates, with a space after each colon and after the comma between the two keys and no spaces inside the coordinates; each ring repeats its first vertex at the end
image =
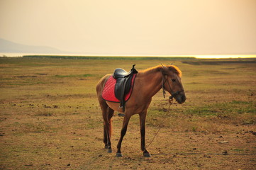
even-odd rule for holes
{"type": "MultiPolygon", "coordinates": [[[[112,152],[111,147],[111,130],[112,130],[112,116],[114,111],[121,112],[119,103],[105,101],[101,93],[104,89],[104,84],[111,74],[106,74],[99,83],[96,85],[96,92],[101,106],[101,111],[104,119],[104,143],[108,152],[112,152]]],[[[148,107],[152,101],[152,96],[157,94],[160,89],[165,90],[176,99],[178,103],[184,103],[186,96],[181,81],[182,72],[178,67],[174,65],[152,67],[138,72],[135,83],[133,86],[133,92],[126,102],[126,109],[123,118],[123,128],[121,130],[121,137],[118,141],[116,157],[122,157],[121,143],[124,135],[126,135],[127,126],[130,117],[134,114],[140,115],[140,141],[141,150],[144,157],[150,157],[150,153],[145,148],[145,118],[147,115],[148,107]]]]}

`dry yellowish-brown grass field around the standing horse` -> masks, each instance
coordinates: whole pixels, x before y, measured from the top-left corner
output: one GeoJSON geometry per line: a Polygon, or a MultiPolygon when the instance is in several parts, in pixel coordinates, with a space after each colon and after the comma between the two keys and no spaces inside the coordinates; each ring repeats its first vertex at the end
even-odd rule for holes
{"type": "Polygon", "coordinates": [[[0,169],[256,169],[256,59],[93,60],[0,58],[0,169]],[[113,116],[113,153],[103,143],[95,86],[117,67],[177,65],[187,101],[156,94],[145,158],[134,115],[115,157],[123,118],[113,116]]]}

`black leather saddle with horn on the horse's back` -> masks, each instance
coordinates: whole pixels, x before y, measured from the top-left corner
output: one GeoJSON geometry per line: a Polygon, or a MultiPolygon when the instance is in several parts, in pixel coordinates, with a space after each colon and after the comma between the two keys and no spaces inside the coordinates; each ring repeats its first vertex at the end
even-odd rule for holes
{"type": "Polygon", "coordinates": [[[116,79],[115,96],[120,101],[120,108],[123,108],[123,111],[125,111],[125,96],[130,91],[133,74],[138,73],[134,67],[135,64],[133,64],[133,68],[130,69],[130,72],[126,72],[126,70],[121,68],[115,69],[113,72],[113,78],[116,79]]]}

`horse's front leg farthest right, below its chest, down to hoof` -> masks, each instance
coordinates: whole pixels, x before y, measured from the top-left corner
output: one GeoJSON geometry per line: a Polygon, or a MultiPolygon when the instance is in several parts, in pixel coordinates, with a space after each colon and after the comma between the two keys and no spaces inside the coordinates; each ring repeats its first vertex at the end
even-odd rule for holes
{"type": "Polygon", "coordinates": [[[150,153],[145,148],[145,119],[147,112],[140,114],[140,148],[143,151],[144,157],[151,157],[150,153]]]}

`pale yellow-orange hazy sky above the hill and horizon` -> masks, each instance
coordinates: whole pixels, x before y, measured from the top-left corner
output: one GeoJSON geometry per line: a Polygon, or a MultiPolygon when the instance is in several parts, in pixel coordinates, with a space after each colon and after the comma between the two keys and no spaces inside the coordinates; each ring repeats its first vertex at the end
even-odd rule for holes
{"type": "Polygon", "coordinates": [[[256,0],[0,0],[0,38],[85,55],[256,55],[256,0]]]}

